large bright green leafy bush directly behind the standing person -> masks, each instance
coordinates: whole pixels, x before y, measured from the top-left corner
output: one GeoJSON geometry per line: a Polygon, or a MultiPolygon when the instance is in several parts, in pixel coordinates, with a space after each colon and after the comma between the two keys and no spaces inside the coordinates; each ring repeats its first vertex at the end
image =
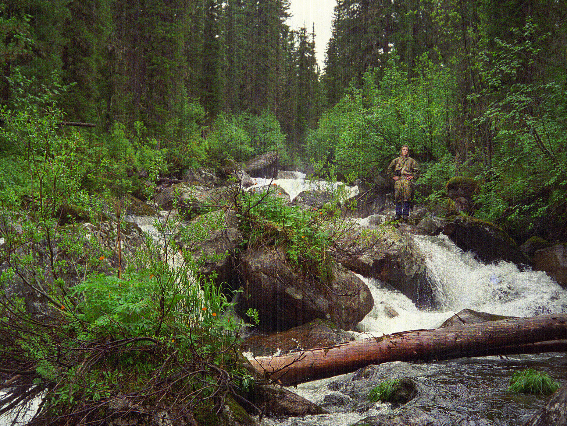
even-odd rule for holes
{"type": "Polygon", "coordinates": [[[334,152],[340,171],[372,178],[401,145],[425,156],[447,153],[446,105],[453,84],[448,72],[424,56],[420,74],[410,80],[393,56],[381,80],[379,74],[366,72],[362,88],[351,87],[335,112],[324,115],[308,145],[315,158],[334,152]]]}

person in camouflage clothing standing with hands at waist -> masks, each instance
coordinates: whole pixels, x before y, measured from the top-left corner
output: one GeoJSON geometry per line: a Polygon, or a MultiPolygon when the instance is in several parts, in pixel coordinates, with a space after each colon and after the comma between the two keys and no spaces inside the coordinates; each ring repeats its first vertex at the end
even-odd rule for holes
{"type": "Polygon", "coordinates": [[[395,220],[409,217],[409,203],[412,199],[411,181],[420,175],[420,165],[412,157],[408,157],[409,147],[401,147],[401,156],[394,158],[388,166],[388,178],[394,180],[393,192],[396,201],[395,220]]]}

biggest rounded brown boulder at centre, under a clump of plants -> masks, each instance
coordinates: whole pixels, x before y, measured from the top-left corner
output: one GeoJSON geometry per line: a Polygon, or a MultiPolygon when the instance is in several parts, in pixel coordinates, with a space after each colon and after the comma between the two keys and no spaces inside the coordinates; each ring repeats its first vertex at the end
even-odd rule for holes
{"type": "Polygon", "coordinates": [[[260,324],[287,330],[322,318],[352,330],[374,305],[370,290],[356,274],[335,262],[327,282],[291,265],[284,249],[249,250],[238,269],[244,281],[244,304],[260,313],[260,324]]]}

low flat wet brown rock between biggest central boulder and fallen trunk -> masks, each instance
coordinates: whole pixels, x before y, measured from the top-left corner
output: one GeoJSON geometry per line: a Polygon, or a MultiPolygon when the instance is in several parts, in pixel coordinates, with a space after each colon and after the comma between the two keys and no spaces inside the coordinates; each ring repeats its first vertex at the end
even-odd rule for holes
{"type": "Polygon", "coordinates": [[[331,321],[316,319],[286,332],[248,337],[240,345],[240,350],[251,352],[254,356],[279,356],[351,340],[354,340],[352,334],[337,329],[331,321]]]}

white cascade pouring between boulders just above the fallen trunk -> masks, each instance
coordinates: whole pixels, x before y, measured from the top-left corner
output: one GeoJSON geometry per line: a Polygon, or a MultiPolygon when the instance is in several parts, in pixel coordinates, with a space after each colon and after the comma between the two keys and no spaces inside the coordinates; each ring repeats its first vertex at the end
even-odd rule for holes
{"type": "Polygon", "coordinates": [[[413,238],[425,253],[428,279],[441,308],[420,311],[400,291],[361,277],[374,297],[374,308],[358,326],[364,332],[361,338],[437,328],[467,308],[517,317],[567,312],[567,290],[544,272],[521,270],[505,261],[483,264],[475,260],[475,253],[463,252],[445,235],[413,238]],[[399,316],[391,318],[391,309],[399,316]]]}

